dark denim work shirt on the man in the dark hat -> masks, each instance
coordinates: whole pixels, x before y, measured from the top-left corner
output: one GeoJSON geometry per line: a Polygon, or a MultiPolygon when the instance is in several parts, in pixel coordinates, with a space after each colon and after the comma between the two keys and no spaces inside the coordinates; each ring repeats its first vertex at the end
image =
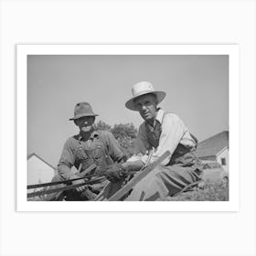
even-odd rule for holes
{"type": "Polygon", "coordinates": [[[104,156],[110,156],[109,160],[111,163],[120,162],[123,159],[123,152],[112,133],[101,130],[94,131],[91,133],[91,136],[87,141],[85,141],[79,133],[69,137],[64,144],[58,164],[59,176],[62,176],[64,179],[69,179],[72,175],[71,167],[75,166],[79,169],[80,159],[78,159],[78,152],[80,151],[80,148],[83,148],[84,150],[91,150],[93,144],[102,145],[102,151],[105,153],[104,156]]]}

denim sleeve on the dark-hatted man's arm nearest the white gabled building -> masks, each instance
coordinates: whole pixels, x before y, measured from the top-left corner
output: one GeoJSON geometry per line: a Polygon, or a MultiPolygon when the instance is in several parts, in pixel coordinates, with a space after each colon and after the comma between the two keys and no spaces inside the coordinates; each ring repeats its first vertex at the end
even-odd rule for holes
{"type": "Polygon", "coordinates": [[[62,153],[59,159],[58,172],[59,176],[64,179],[69,179],[71,176],[71,167],[75,163],[74,150],[72,149],[71,138],[69,138],[62,149],[62,153]]]}

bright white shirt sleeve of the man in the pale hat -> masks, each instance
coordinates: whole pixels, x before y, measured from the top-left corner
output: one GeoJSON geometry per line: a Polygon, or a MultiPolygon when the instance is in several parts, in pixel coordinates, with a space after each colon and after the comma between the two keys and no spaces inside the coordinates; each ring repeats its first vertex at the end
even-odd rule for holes
{"type": "MultiPolygon", "coordinates": [[[[183,134],[186,132],[186,126],[175,114],[165,114],[164,122],[162,123],[162,133],[159,140],[159,145],[152,155],[150,163],[155,162],[166,150],[170,151],[170,156],[165,158],[161,165],[167,165],[173,153],[176,150],[177,144],[180,143],[183,134]]],[[[145,163],[147,155],[144,155],[142,161],[145,163]]]]}

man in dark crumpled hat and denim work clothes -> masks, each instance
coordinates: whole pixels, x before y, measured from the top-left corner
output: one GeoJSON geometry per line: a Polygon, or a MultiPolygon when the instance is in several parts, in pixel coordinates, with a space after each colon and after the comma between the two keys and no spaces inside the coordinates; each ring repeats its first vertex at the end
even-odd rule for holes
{"type": "MultiPolygon", "coordinates": [[[[79,172],[86,170],[91,165],[96,164],[97,172],[105,170],[114,162],[123,160],[123,152],[119,144],[108,131],[96,131],[93,123],[95,114],[88,102],[79,102],[75,106],[74,117],[70,118],[79,128],[80,133],[69,137],[64,144],[62,154],[59,159],[58,173],[52,182],[79,178],[78,174],[71,171],[75,166],[79,172]]],[[[74,180],[72,185],[84,183],[83,179],[74,180]]],[[[96,184],[91,187],[77,187],[66,193],[69,200],[91,200],[100,192],[104,183],[96,184]]],[[[61,186],[56,186],[61,187],[61,186]]],[[[50,194],[47,200],[61,200],[64,193],[50,194]]]]}

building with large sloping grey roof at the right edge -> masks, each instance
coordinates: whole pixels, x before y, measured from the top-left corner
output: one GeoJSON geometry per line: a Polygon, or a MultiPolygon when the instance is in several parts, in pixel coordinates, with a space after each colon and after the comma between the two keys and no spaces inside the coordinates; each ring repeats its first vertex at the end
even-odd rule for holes
{"type": "Polygon", "coordinates": [[[229,132],[224,131],[197,144],[197,156],[204,164],[220,165],[229,172],[229,132]]]}

